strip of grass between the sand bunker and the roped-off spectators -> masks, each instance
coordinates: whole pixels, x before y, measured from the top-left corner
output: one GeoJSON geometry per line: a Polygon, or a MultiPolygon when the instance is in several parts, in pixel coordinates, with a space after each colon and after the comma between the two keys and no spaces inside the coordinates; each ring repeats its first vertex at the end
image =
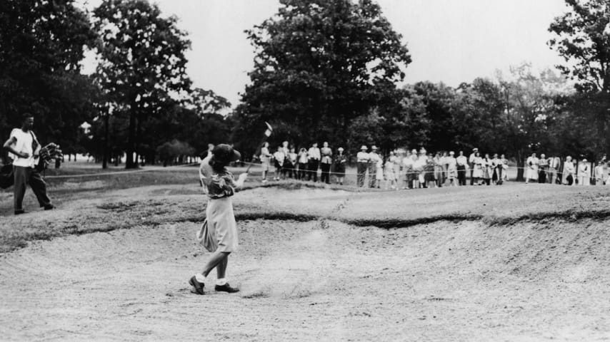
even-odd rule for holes
{"type": "MultiPolygon", "coordinates": [[[[76,175],[78,167],[63,170],[76,175]],[[72,172],[72,173],[71,173],[72,172]]],[[[234,169],[234,173],[244,169],[234,169]]],[[[202,222],[205,197],[196,167],[155,168],[147,172],[49,179],[49,194],[59,209],[12,215],[11,192],[1,193],[0,252],[28,242],[69,234],[202,222]]],[[[336,220],[355,226],[410,227],[436,221],[482,220],[506,225],[523,220],[610,217],[610,187],[558,185],[444,187],[379,191],[280,181],[262,185],[256,174],[234,198],[238,220],[336,220]]],[[[28,191],[26,209],[36,207],[28,191]]],[[[34,211],[34,210],[32,210],[34,211]]]]}

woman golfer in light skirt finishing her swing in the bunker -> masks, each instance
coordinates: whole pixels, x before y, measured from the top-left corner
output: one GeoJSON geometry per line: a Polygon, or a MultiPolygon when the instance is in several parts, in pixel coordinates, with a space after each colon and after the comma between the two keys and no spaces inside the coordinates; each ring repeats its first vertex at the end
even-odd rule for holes
{"type": "Polygon", "coordinates": [[[204,266],[204,271],[195,274],[189,279],[194,287],[195,294],[204,294],[206,276],[216,267],[216,291],[234,293],[239,291],[226,282],[226,265],[229,254],[237,248],[237,224],[233,214],[231,196],[236,188],[244,185],[247,174],[242,173],[235,181],[231,172],[226,170],[229,162],[239,160],[241,155],[233,147],[225,144],[216,145],[199,167],[199,177],[208,196],[206,207],[206,220],[197,232],[197,239],[204,247],[212,252],[210,259],[204,266]]]}

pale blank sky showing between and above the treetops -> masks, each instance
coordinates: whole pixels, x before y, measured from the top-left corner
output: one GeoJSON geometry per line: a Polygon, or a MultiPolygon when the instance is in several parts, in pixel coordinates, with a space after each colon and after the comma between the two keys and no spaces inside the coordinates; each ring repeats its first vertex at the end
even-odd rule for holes
{"type": "MultiPolygon", "coordinates": [[[[496,70],[530,62],[534,70],[562,63],[546,42],[564,0],[377,0],[413,60],[404,83],[443,82],[459,86],[496,70]]],[[[79,0],[93,9],[101,0],[79,0]]],[[[194,86],[239,103],[254,66],[254,48],[244,30],[276,14],[278,0],[156,0],[189,33],[187,73],[194,86]]],[[[91,55],[84,72],[94,70],[91,55]]]]}

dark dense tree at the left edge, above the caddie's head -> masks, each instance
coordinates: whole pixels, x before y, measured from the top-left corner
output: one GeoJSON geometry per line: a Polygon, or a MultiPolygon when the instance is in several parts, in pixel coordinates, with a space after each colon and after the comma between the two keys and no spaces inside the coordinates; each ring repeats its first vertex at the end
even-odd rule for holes
{"type": "Polygon", "coordinates": [[[74,1],[0,1],[0,134],[36,117],[41,142],[79,152],[79,126],[94,115],[98,89],[80,74],[96,34],[74,1]]]}

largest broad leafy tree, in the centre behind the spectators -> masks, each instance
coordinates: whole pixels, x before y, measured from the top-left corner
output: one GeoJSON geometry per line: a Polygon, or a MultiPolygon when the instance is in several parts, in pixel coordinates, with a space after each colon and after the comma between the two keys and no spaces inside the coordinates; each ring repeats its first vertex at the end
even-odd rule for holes
{"type": "Polygon", "coordinates": [[[238,144],[254,152],[264,121],[271,142],[344,145],[349,123],[395,100],[409,51],[371,0],[281,0],[246,31],[256,49],[251,85],[234,112],[238,144]]]}

